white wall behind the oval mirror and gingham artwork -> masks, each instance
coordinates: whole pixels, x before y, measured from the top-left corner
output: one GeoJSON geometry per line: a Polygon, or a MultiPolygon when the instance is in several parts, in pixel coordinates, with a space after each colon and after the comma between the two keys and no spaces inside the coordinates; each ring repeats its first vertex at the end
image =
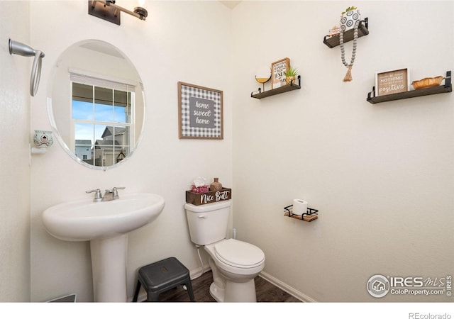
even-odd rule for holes
{"type": "MultiPolygon", "coordinates": [[[[122,1],[125,8],[136,1],[122,1]]],[[[80,40],[107,41],[138,69],[147,103],[143,140],[134,156],[115,169],[82,167],[57,142],[48,154],[33,157],[31,168],[31,300],[77,293],[92,301],[88,242],[63,242],[48,235],[40,216],[45,208],[75,198],[87,189],[126,186],[121,193],[148,191],[166,205],[154,223],[129,235],[128,296],[139,267],[175,256],[189,269],[200,267],[184,213],[185,191],[194,177],[232,181],[231,10],[217,1],[148,1],[147,21],[126,14],[121,26],[89,16],[87,1],[33,1],[31,39],[45,52],[42,86],[31,103],[31,130],[50,129],[46,96],[52,65],[80,40]],[[223,90],[224,139],[179,140],[177,82],[223,90]]]]}

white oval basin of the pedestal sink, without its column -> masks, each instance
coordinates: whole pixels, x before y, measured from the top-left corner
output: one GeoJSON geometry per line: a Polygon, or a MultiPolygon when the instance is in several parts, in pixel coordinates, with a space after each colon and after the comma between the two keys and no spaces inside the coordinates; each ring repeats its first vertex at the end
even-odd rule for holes
{"type": "Polygon", "coordinates": [[[46,209],[43,223],[60,240],[85,241],[113,237],[142,227],[160,215],[164,198],[157,194],[123,194],[95,203],[92,196],[46,209]]]}

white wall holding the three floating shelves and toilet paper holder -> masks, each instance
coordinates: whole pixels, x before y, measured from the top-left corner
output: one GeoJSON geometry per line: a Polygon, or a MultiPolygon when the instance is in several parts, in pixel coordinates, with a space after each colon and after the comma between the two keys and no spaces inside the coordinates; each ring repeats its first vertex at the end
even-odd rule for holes
{"type": "MultiPolygon", "coordinates": [[[[348,1],[243,1],[233,9],[233,224],[265,274],[315,301],[453,301],[369,296],[370,276],[453,274],[454,95],[372,105],[375,72],[411,80],[454,68],[450,1],[355,1],[369,18],[353,82],[323,44],[348,1]],[[289,57],[301,89],[251,99],[255,71],[289,57]],[[311,223],[284,217],[305,198],[311,223]]],[[[345,45],[350,61],[351,43],[345,45]]]]}

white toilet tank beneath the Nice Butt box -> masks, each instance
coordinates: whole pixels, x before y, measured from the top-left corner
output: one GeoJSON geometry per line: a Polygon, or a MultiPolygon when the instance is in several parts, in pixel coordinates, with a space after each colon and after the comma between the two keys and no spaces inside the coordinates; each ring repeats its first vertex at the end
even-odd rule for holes
{"type": "Polygon", "coordinates": [[[191,241],[209,245],[226,238],[231,200],[196,206],[184,204],[191,241]]]}

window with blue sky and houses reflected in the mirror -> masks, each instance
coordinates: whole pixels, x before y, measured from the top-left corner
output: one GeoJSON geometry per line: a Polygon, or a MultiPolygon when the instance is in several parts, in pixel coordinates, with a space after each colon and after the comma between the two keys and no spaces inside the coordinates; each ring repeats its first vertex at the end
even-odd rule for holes
{"type": "Polygon", "coordinates": [[[135,88],[104,79],[72,81],[72,140],[74,154],[97,167],[116,164],[135,145],[135,88]],[[82,83],[81,83],[82,82],[82,83]],[[102,86],[100,83],[102,82],[102,86]],[[132,133],[132,134],[131,134],[132,133]]]}

